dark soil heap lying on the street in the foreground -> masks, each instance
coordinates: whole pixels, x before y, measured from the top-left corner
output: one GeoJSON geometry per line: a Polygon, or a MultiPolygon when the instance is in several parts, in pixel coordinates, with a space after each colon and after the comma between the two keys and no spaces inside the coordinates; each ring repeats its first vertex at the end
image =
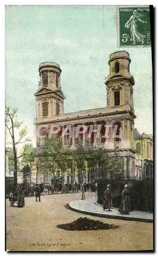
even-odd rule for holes
{"type": "Polygon", "coordinates": [[[119,228],[117,225],[106,224],[101,221],[95,221],[88,218],[79,218],[71,223],[57,225],[57,227],[65,230],[99,230],[119,228]]]}

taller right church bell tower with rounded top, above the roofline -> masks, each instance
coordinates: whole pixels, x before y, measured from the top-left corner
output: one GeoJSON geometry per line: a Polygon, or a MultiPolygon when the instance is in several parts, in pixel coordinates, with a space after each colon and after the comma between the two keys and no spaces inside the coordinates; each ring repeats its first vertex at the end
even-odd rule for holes
{"type": "Polygon", "coordinates": [[[126,51],[117,51],[110,55],[109,75],[105,81],[107,106],[129,104],[133,110],[134,78],[130,74],[130,61],[126,51]]]}

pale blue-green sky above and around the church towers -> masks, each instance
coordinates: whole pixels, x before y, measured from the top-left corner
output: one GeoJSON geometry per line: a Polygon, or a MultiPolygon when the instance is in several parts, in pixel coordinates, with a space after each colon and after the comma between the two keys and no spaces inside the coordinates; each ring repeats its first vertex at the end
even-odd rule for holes
{"type": "Polygon", "coordinates": [[[6,103],[18,108],[33,136],[35,91],[41,62],[57,62],[66,96],[64,112],[106,106],[109,55],[130,54],[134,76],[135,127],[152,133],[151,48],[117,47],[116,6],[6,7],[6,103]]]}

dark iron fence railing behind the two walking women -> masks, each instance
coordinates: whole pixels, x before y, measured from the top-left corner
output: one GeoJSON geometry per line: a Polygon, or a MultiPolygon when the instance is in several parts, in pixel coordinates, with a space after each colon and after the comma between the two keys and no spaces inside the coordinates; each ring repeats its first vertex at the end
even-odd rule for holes
{"type": "Polygon", "coordinates": [[[122,191],[127,184],[130,194],[131,210],[153,211],[152,177],[117,177],[98,180],[98,203],[103,204],[104,191],[111,185],[112,205],[118,208],[122,200],[122,191]]]}

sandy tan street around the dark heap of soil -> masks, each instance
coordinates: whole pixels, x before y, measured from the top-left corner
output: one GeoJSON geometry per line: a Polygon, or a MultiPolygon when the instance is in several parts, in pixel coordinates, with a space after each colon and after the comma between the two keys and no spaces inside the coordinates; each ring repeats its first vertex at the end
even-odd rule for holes
{"type": "MultiPolygon", "coordinates": [[[[94,193],[86,193],[93,197],[94,193]]],[[[153,224],[87,216],[65,207],[81,199],[81,193],[25,198],[25,207],[14,207],[6,199],[7,250],[11,251],[115,251],[152,250],[153,224]],[[91,218],[119,225],[118,229],[66,231],[56,226],[78,218],[91,218]]]]}

